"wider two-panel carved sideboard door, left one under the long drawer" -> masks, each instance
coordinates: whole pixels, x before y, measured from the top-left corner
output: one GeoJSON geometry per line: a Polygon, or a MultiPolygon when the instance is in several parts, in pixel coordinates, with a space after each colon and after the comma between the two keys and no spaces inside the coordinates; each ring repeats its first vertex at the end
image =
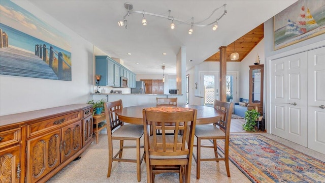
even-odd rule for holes
{"type": "Polygon", "coordinates": [[[36,182],[60,164],[60,134],[57,129],[27,140],[27,182],[36,182]]]}

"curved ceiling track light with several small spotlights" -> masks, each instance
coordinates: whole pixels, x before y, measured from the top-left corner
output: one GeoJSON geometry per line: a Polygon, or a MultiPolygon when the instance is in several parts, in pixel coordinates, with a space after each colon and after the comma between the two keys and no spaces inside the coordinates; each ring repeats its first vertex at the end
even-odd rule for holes
{"type": "Polygon", "coordinates": [[[165,16],[165,15],[159,15],[159,14],[155,14],[155,13],[145,12],[144,10],[143,11],[136,11],[136,10],[133,10],[133,5],[131,3],[124,3],[124,7],[127,10],[127,13],[123,16],[123,21],[119,21],[118,22],[118,25],[119,26],[123,26],[124,25],[124,27],[127,28],[127,24],[126,24],[127,20],[125,19],[126,16],[129,16],[130,14],[133,14],[133,13],[141,13],[142,14],[142,24],[143,25],[147,25],[147,20],[145,19],[144,15],[151,15],[151,16],[156,16],[156,17],[160,17],[160,18],[167,18],[168,20],[172,20],[171,29],[174,29],[175,28],[174,21],[178,21],[178,22],[181,22],[183,24],[191,25],[191,28],[188,30],[188,34],[190,34],[190,35],[193,33],[193,27],[194,26],[205,27],[205,26],[211,26],[211,25],[214,24],[212,26],[212,30],[213,31],[216,31],[216,29],[218,28],[218,21],[227,13],[227,10],[225,9],[225,6],[226,6],[226,4],[222,5],[219,8],[216,8],[215,10],[213,10],[212,13],[210,14],[210,16],[207,17],[205,20],[194,23],[193,22],[193,19],[194,19],[193,17],[191,18],[192,19],[191,22],[174,18],[173,16],[170,15],[171,14],[171,10],[169,10],[169,16],[165,16]],[[223,10],[222,15],[219,18],[217,18],[215,21],[213,21],[211,23],[201,24],[202,22],[204,22],[207,19],[209,19],[217,10],[219,10],[222,7],[224,8],[224,10],[223,10]]]}

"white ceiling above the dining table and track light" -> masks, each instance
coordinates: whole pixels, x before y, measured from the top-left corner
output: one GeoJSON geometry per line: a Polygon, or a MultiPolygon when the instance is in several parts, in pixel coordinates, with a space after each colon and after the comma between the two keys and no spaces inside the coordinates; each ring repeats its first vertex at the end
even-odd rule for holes
{"type": "MultiPolygon", "coordinates": [[[[218,21],[216,31],[212,31],[213,25],[194,26],[193,34],[189,35],[187,32],[190,25],[174,21],[176,27],[172,30],[171,20],[155,16],[146,15],[148,24],[143,26],[142,14],[126,16],[127,29],[118,26],[117,22],[123,20],[127,13],[124,8],[126,1],[29,0],[35,7],[94,46],[112,57],[123,60],[124,66],[136,74],[162,73],[161,65],[164,63],[165,74],[171,75],[176,74],[176,57],[181,46],[186,48],[186,70],[208,60],[218,52],[220,46],[228,45],[227,51],[231,54],[235,40],[238,40],[235,49],[239,52],[241,60],[257,43],[254,39],[258,39],[254,38],[255,33],[250,37],[241,37],[296,1],[129,1],[133,4],[134,11],[144,10],[168,16],[171,10],[171,16],[175,18],[190,23],[194,17],[194,23],[204,21],[204,24],[216,21],[216,18],[222,15],[223,9],[214,13],[213,11],[226,4],[227,13],[218,21]],[[246,39],[248,40],[244,42],[246,39]],[[189,60],[192,62],[188,62],[189,60]]],[[[31,13],[40,14],[37,11],[31,13]]],[[[256,34],[257,32],[263,34],[262,30],[256,31],[256,34]]],[[[214,60],[217,58],[218,56],[213,56],[214,60]]]]}

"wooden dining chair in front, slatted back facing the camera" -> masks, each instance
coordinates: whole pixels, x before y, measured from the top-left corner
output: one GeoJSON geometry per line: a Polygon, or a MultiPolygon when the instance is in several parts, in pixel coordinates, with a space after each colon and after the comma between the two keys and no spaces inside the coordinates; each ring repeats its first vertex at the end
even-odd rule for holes
{"type": "Polygon", "coordinates": [[[143,109],[147,182],[154,182],[155,174],[165,172],[178,172],[180,182],[190,182],[197,109],[184,109],[182,112],[143,109]],[[162,135],[150,136],[148,126],[161,130],[162,135]],[[174,133],[167,135],[167,130],[174,133]],[[183,130],[183,135],[178,135],[178,130],[183,130]]]}

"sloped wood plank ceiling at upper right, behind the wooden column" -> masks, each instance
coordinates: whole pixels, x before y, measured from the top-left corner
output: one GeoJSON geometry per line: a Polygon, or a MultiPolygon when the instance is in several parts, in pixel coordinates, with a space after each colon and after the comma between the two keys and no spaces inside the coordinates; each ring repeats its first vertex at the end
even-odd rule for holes
{"type": "MultiPolygon", "coordinates": [[[[227,46],[227,62],[241,62],[245,56],[264,38],[264,23],[258,25],[252,31],[248,32],[235,42],[227,46]],[[239,59],[231,60],[230,55],[234,52],[234,43],[235,43],[235,52],[238,52],[239,59]]],[[[204,62],[219,62],[220,61],[220,51],[216,52],[204,62]]]]}

